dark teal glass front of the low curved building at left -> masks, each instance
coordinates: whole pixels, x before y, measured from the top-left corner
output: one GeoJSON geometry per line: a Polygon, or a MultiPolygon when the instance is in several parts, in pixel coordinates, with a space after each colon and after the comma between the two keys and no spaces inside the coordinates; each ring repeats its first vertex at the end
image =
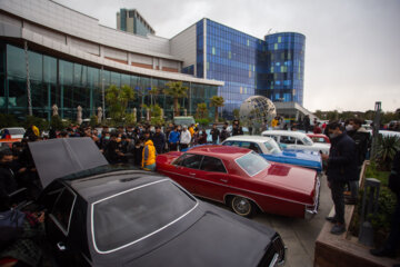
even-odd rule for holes
{"type": "MultiPolygon", "coordinates": [[[[111,85],[128,85],[136,91],[136,99],[129,102],[129,109],[140,112],[142,103],[150,105],[148,91],[157,87],[162,91],[169,80],[142,77],[102,70],[77,62],[50,57],[36,51],[28,51],[29,80],[33,115],[49,119],[56,103],[62,118],[77,118],[77,107],[81,106],[82,117],[89,118],[102,107],[102,88],[111,85]]],[[[14,113],[23,118],[28,113],[26,52],[22,48],[0,42],[0,112],[14,113]]],[[[181,109],[194,113],[197,103],[207,102],[217,95],[217,86],[183,82],[189,88],[188,98],[180,99],[181,109]]],[[[153,102],[164,109],[168,118],[172,117],[173,99],[160,93],[153,102]]],[[[107,115],[107,105],[106,105],[107,115]]],[[[144,117],[138,113],[138,118],[144,117]]],[[[212,109],[210,109],[212,116],[212,109]]]]}

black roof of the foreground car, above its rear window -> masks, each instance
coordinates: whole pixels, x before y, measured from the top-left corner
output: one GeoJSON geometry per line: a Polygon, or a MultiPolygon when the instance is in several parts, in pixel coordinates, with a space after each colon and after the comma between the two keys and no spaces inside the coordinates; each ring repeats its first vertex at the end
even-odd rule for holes
{"type": "Polygon", "coordinates": [[[94,202],[131,188],[147,185],[154,181],[169,180],[169,178],[144,170],[117,170],[78,179],[63,179],[88,202],[94,202]]]}

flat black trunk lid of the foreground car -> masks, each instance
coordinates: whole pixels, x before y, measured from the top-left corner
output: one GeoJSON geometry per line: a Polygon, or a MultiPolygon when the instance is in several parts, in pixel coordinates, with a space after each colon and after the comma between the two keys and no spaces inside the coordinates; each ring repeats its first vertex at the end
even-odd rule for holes
{"type": "MultiPolygon", "coordinates": [[[[180,224],[180,233],[140,256],[128,248],[118,257],[121,266],[258,266],[277,233],[207,202],[180,224]],[[187,225],[192,218],[194,221],[187,225]]],[[[168,228],[167,228],[168,229],[168,228]]],[[[167,229],[164,231],[167,231],[167,229]]],[[[173,229],[171,229],[173,230],[173,229]]],[[[170,231],[172,233],[172,231],[170,231]]],[[[143,248],[146,244],[138,244],[143,248]]],[[[111,255],[110,255],[111,256],[111,255]]],[[[117,263],[118,263],[117,261],[117,263]]],[[[96,263],[98,266],[107,266],[96,263]]],[[[114,261],[114,266],[118,266],[114,261]]]]}

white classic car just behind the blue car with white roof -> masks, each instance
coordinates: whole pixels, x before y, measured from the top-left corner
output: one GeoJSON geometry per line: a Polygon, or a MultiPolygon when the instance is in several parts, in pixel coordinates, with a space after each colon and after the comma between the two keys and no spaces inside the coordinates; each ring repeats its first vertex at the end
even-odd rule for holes
{"type": "Polygon", "coordinates": [[[311,150],[329,155],[330,144],[313,142],[304,132],[267,130],[261,135],[273,138],[282,149],[311,150]]]}

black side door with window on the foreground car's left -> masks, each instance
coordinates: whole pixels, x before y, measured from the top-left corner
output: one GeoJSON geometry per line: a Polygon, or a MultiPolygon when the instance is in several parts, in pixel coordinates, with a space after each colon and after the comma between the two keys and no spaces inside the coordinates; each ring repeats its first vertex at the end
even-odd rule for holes
{"type": "Polygon", "coordinates": [[[62,266],[72,266],[76,255],[70,238],[70,226],[77,195],[64,186],[61,190],[49,191],[48,199],[52,198],[54,205],[46,219],[47,237],[56,260],[62,266]]]}

